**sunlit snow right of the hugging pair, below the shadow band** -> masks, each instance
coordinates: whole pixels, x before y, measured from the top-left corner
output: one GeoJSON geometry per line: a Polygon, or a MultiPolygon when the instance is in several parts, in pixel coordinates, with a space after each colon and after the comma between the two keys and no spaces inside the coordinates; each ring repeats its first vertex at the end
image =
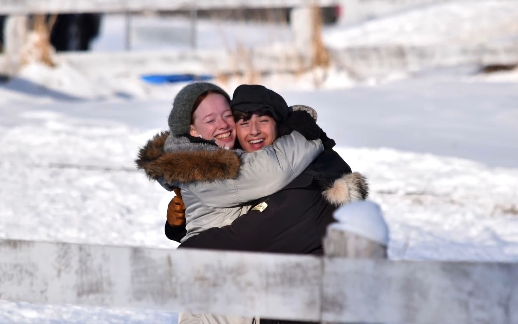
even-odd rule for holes
{"type": "Polygon", "coordinates": [[[370,184],[389,256],[518,261],[518,169],[394,149],[337,149],[370,184]]]}

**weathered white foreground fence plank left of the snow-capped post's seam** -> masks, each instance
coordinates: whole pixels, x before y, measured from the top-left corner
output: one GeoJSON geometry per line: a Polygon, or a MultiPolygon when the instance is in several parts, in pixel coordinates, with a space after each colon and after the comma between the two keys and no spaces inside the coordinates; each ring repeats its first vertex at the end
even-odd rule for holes
{"type": "Polygon", "coordinates": [[[0,299],[319,320],[311,256],[0,241],[0,299]]]}

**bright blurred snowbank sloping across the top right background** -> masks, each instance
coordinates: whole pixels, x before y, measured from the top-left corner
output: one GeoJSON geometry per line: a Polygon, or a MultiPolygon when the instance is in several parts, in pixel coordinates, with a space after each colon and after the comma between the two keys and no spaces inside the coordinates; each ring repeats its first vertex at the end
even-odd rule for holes
{"type": "Polygon", "coordinates": [[[515,37],[517,20],[515,1],[428,2],[418,10],[405,10],[357,26],[329,27],[324,40],[335,48],[482,44],[515,37]]]}

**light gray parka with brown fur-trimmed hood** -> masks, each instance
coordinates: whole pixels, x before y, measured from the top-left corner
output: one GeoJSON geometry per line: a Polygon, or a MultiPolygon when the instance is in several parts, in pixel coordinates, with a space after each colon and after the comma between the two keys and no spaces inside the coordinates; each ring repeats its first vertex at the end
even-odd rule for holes
{"type": "Polygon", "coordinates": [[[300,175],[323,151],[320,139],[298,132],[247,153],[188,137],[157,134],[140,150],[137,166],[168,190],[182,190],[187,234],[231,224],[248,202],[275,193],[300,175]]]}

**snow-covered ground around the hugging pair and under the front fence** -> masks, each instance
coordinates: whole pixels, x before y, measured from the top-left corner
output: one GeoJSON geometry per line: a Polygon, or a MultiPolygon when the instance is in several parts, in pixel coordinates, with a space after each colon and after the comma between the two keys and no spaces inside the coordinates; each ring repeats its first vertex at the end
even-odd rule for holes
{"type": "MultiPolygon", "coordinates": [[[[117,35],[103,33],[98,50],[117,35]]],[[[255,41],[266,42],[263,36],[255,41]]],[[[369,178],[371,199],[389,223],[391,258],[518,262],[518,78],[516,71],[488,76],[476,69],[377,87],[354,87],[338,74],[320,90],[310,75],[261,83],[289,104],[313,106],[337,151],[369,178]]],[[[30,65],[0,83],[0,238],[176,246],[163,234],[171,193],[137,172],[133,160],[167,128],[183,84],[114,75],[30,65]]],[[[222,86],[232,92],[239,81],[222,86]]],[[[175,321],[172,312],[0,301],[0,322],[175,321]]]]}

